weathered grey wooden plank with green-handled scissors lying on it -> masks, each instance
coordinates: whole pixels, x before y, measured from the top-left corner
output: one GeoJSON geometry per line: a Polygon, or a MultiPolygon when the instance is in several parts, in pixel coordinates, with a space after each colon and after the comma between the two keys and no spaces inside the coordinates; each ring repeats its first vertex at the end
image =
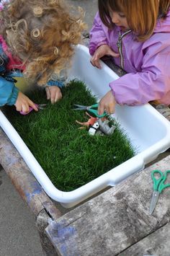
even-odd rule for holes
{"type": "Polygon", "coordinates": [[[151,171],[170,167],[170,156],[66,213],[46,228],[60,255],[117,255],[170,220],[170,188],[152,216],[151,171]]]}

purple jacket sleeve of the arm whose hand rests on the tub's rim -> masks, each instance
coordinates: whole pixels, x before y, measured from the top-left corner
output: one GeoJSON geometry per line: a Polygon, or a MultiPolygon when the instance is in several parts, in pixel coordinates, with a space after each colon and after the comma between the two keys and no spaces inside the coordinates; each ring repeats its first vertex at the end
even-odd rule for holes
{"type": "Polygon", "coordinates": [[[108,45],[103,26],[102,20],[99,17],[99,12],[97,12],[94,17],[94,25],[90,31],[89,53],[91,56],[94,55],[95,50],[97,50],[100,45],[108,45]]]}

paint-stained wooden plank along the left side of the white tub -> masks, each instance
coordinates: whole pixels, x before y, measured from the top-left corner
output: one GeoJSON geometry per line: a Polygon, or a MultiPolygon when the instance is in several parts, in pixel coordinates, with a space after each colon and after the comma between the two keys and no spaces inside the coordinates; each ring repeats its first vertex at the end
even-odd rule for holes
{"type": "Polygon", "coordinates": [[[0,128],[0,164],[9,175],[19,195],[35,216],[45,208],[53,219],[61,216],[48,195],[30,172],[22,156],[0,128]]]}

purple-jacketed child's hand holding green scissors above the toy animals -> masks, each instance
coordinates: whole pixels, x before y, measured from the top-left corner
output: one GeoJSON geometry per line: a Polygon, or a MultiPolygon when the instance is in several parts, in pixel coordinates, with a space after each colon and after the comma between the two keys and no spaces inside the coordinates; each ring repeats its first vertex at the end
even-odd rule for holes
{"type": "Polygon", "coordinates": [[[115,112],[115,97],[112,94],[112,91],[107,92],[107,94],[102,97],[102,100],[99,102],[98,114],[102,115],[104,111],[108,114],[113,114],[115,112]]]}

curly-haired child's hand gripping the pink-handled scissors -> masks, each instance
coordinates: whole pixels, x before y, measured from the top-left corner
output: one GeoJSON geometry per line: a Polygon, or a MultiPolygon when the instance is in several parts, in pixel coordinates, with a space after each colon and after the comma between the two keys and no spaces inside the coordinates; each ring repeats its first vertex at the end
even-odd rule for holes
{"type": "Polygon", "coordinates": [[[32,100],[30,100],[26,95],[22,92],[18,93],[17,101],[15,102],[15,107],[17,111],[28,112],[29,107],[32,107],[35,111],[38,111],[36,105],[32,100]]]}

